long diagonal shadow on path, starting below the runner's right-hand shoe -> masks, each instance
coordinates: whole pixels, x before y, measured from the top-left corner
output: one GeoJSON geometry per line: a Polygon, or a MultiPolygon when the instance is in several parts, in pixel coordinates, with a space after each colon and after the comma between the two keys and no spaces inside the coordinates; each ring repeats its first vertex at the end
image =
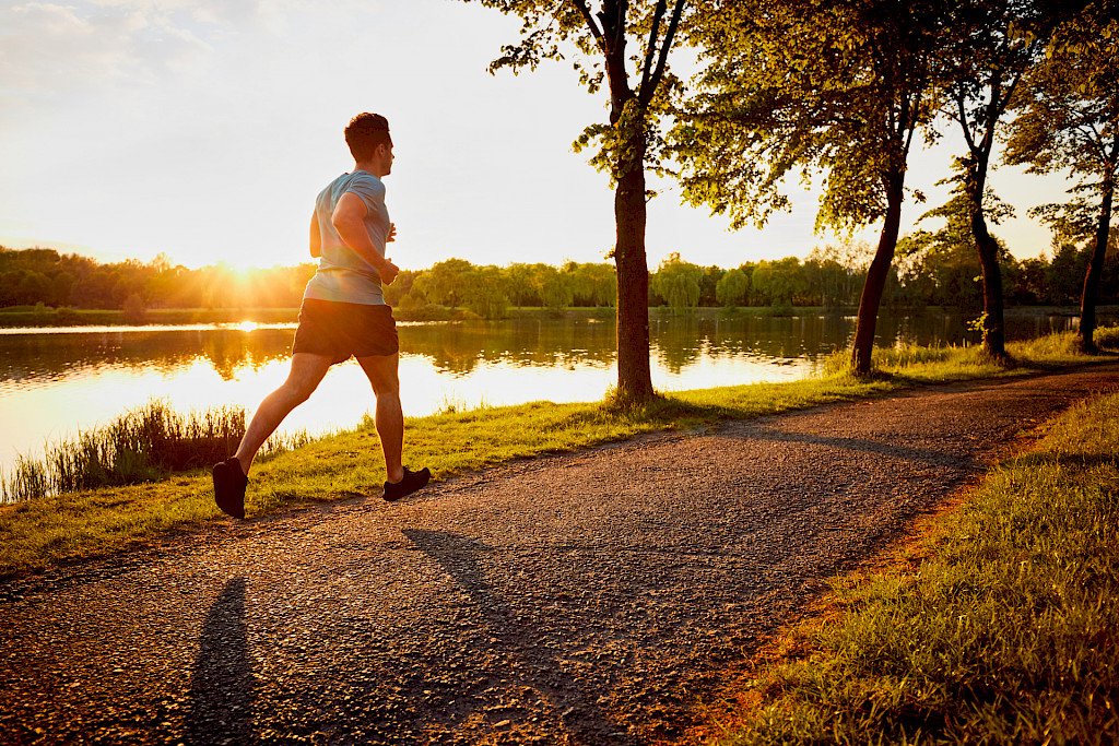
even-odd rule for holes
{"type": "Polygon", "coordinates": [[[582,737],[590,736],[594,744],[632,743],[624,726],[605,717],[601,708],[580,691],[571,677],[563,672],[556,651],[543,644],[542,634],[518,621],[518,613],[510,608],[501,595],[486,582],[486,570],[480,561],[491,554],[489,547],[470,537],[446,531],[403,529],[402,532],[425,555],[439,565],[466,591],[489,621],[492,635],[510,655],[526,663],[520,678],[530,684],[555,709],[556,716],[582,737]]]}

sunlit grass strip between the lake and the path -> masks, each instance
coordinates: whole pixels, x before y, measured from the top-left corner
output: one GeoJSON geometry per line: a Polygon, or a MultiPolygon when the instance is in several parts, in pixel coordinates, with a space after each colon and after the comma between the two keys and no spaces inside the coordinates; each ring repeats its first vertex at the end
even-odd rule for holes
{"type": "MultiPolygon", "coordinates": [[[[1101,343],[1119,342],[1119,329],[1098,337],[1101,343]]],[[[446,479],[513,459],[571,451],[640,433],[852,400],[922,383],[1019,375],[1093,360],[1073,348],[1071,334],[1013,344],[1010,351],[1019,365],[1009,369],[986,360],[977,348],[880,351],[881,375],[871,379],[848,375],[843,365],[846,353],[840,353],[817,378],[681,391],[641,409],[603,403],[533,403],[446,413],[408,419],[405,452],[410,465],[429,465],[436,479],[446,479]]],[[[300,503],[376,495],[383,480],[376,433],[366,422],[354,431],[258,460],[246,509],[250,516],[263,516],[300,503]]],[[[224,519],[214,507],[205,470],[0,507],[0,574],[116,551],[134,541],[214,520],[224,519]]]]}

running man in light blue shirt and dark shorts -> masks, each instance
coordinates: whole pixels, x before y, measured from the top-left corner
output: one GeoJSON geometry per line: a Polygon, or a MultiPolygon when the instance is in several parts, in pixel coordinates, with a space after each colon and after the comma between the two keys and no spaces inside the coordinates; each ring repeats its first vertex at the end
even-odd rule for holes
{"type": "Polygon", "coordinates": [[[385,500],[411,494],[431,479],[426,468],[413,472],[401,462],[404,415],[396,321],[382,293],[382,283],[392,284],[399,272],[385,257],[385,244],[396,235],[382,182],[393,169],[388,121],[379,114],[358,114],[346,128],[346,144],[354,155],[354,171],[331,181],[314,200],[311,256],[319,257],[319,268],[303,292],[291,372],[256,409],[236,455],[214,466],[217,506],[235,518],[245,517],[248,470],[264,441],[311,396],[330,366],[350,357],[357,358],[377,397],[385,500]]]}

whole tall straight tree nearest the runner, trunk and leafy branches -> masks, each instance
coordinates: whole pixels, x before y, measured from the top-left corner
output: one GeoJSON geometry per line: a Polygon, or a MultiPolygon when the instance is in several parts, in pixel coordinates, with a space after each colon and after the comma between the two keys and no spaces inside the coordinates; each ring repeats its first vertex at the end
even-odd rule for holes
{"type": "Polygon", "coordinates": [[[574,51],[579,55],[575,67],[586,88],[593,94],[603,83],[606,85],[609,124],[589,126],[576,149],[596,144],[599,150],[591,162],[609,172],[614,185],[618,395],[648,399],[653,391],[645,249],[646,168],[660,159],[657,124],[675,84],[668,72],[668,56],[678,44],[685,0],[675,0],[671,10],[668,0],[476,1],[524,20],[520,40],[502,48],[501,57],[490,64],[490,72],[534,68],[543,59],[560,59],[564,51],[574,51]],[[631,43],[639,45],[639,53],[632,56],[627,53],[631,43]]]}

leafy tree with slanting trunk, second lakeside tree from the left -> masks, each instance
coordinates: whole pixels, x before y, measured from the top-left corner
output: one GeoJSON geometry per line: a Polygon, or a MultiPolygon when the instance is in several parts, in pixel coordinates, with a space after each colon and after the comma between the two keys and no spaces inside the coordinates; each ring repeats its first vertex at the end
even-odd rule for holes
{"type": "Polygon", "coordinates": [[[703,16],[709,66],[675,130],[684,193],[764,225],[781,181],[824,177],[817,228],[883,221],[859,299],[852,361],[871,367],[897,243],[913,138],[929,122],[947,0],[753,0],[703,16]]]}

